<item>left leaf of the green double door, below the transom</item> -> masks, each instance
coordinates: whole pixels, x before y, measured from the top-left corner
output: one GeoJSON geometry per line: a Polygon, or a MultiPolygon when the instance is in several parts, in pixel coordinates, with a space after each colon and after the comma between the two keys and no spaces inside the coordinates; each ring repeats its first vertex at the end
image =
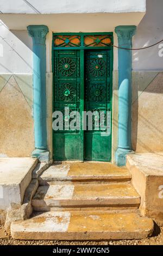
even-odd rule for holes
{"type": "Polygon", "coordinates": [[[69,113],[83,110],[83,65],[80,55],[79,50],[54,51],[53,110],[61,111],[64,119],[64,129],[53,134],[55,160],[83,160],[83,131],[67,130],[65,127],[68,119],[68,123],[71,121],[65,107],[69,108],[69,113]]]}

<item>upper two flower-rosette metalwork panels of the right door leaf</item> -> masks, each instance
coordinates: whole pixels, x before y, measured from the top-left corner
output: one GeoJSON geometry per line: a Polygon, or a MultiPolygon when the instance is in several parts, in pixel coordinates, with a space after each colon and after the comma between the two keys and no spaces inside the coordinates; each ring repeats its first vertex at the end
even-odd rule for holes
{"type": "Polygon", "coordinates": [[[109,51],[85,53],[85,108],[86,111],[110,108],[110,54],[109,51]]]}

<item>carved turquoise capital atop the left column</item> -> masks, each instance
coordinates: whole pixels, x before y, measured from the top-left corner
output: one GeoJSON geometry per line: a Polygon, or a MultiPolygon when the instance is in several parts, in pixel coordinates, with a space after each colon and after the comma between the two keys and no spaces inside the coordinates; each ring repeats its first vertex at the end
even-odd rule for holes
{"type": "Polygon", "coordinates": [[[29,25],[27,27],[28,34],[32,36],[34,44],[45,44],[46,35],[49,29],[45,25],[29,25]]]}

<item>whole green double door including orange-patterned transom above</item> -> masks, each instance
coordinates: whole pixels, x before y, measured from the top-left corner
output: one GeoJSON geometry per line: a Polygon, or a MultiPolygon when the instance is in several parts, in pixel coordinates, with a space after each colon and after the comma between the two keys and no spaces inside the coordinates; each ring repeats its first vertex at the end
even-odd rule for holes
{"type": "MultiPolygon", "coordinates": [[[[53,34],[53,112],[63,115],[63,129],[53,130],[53,159],[111,160],[111,134],[82,129],[83,111],[111,111],[112,33],[53,34]],[[66,129],[69,113],[80,113],[80,129],[66,129]]],[[[105,121],[104,121],[105,122],[105,121]]]]}

